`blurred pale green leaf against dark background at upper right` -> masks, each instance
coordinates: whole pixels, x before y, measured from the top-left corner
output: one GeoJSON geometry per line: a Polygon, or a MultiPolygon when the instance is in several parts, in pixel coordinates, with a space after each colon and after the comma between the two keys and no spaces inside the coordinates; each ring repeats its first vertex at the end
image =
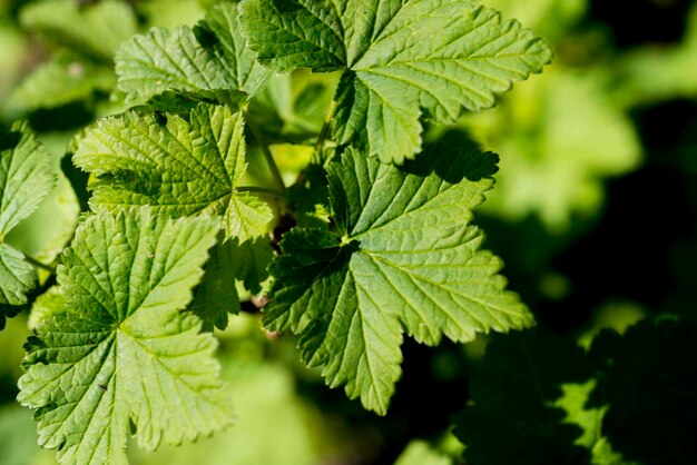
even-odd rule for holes
{"type": "Polygon", "coordinates": [[[516,220],[534,214],[558,231],[576,215],[595,215],[605,179],[635,168],[641,155],[608,89],[607,77],[558,66],[493,110],[465,117],[469,133],[505,154],[484,208],[516,220]]]}

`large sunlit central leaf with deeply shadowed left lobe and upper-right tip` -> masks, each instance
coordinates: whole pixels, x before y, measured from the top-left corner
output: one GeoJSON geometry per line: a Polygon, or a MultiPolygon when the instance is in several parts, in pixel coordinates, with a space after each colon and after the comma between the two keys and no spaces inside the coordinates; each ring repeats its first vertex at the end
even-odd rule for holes
{"type": "Polygon", "coordinates": [[[468,224],[495,160],[434,147],[399,169],[347,150],[328,171],[338,233],[284,235],[265,325],[300,334],[305,363],[380,414],[401,374],[403,330],[435,345],[531,325],[468,224]]]}

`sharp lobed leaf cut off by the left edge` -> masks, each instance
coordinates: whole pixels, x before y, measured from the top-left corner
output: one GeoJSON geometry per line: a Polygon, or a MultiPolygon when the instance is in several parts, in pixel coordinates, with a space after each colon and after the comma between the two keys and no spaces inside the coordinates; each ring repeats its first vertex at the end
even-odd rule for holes
{"type": "Polygon", "coordinates": [[[55,184],[50,156],[28,125],[0,128],[0,304],[26,304],[26,293],[36,286],[33,267],[4,238],[39,207],[55,184]]]}

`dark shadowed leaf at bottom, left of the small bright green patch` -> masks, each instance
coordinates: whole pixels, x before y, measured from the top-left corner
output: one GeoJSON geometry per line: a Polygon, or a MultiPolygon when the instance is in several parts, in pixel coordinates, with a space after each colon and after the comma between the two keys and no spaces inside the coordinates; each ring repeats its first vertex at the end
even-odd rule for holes
{"type": "MultiPolygon", "coordinates": [[[[455,434],[472,464],[578,464],[588,451],[575,445],[580,428],[554,405],[560,386],[592,374],[573,340],[536,329],[495,339],[472,374],[473,405],[460,414],[455,434]]],[[[582,406],[582,405],[581,405],[582,406]]]]}

